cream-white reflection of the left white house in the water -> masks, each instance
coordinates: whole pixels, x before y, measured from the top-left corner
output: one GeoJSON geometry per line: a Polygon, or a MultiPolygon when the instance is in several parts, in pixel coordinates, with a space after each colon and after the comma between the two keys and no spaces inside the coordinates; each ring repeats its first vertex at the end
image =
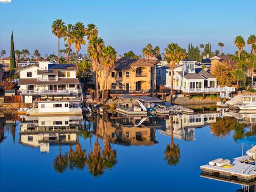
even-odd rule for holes
{"type": "Polygon", "coordinates": [[[20,143],[49,152],[50,145],[74,145],[83,116],[22,117],[20,143]]]}

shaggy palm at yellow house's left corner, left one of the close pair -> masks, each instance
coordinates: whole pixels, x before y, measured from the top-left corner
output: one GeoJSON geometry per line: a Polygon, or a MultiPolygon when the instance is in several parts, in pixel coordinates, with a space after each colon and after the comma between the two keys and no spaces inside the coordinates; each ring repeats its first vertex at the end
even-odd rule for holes
{"type": "Polygon", "coordinates": [[[101,67],[101,57],[102,50],[104,47],[104,41],[101,37],[93,36],[91,41],[89,41],[89,45],[87,47],[87,53],[89,54],[90,59],[92,59],[92,67],[95,73],[95,81],[96,81],[96,100],[99,101],[99,84],[98,84],[98,76],[99,70],[101,67]]]}

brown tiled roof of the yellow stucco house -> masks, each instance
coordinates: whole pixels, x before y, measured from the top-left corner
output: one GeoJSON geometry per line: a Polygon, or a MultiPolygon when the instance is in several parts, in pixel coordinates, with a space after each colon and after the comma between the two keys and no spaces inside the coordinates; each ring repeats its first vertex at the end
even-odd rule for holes
{"type": "MultiPolygon", "coordinates": [[[[156,63],[156,62],[155,62],[156,63]]],[[[153,67],[153,62],[147,60],[133,59],[130,57],[122,57],[118,59],[113,67],[114,70],[131,69],[132,67],[153,67]]]]}

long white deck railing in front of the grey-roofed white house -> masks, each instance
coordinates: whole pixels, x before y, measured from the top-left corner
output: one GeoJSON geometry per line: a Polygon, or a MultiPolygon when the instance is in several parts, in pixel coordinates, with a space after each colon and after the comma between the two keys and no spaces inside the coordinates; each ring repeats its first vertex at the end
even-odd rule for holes
{"type": "MultiPolygon", "coordinates": [[[[169,85],[165,85],[169,87],[169,85]]],[[[235,87],[215,87],[215,88],[195,88],[195,89],[184,89],[181,86],[173,86],[174,90],[183,91],[186,93],[214,93],[214,92],[234,92],[236,91],[235,87]]]]}

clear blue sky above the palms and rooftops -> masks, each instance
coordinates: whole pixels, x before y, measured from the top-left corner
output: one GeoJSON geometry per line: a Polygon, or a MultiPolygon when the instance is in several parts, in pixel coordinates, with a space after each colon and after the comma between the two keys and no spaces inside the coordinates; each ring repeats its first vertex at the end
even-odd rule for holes
{"type": "Polygon", "coordinates": [[[38,49],[42,56],[57,53],[51,24],[62,19],[94,23],[119,54],[130,50],[141,54],[147,43],[164,52],[172,42],[186,49],[188,43],[210,42],[213,51],[222,42],[224,52],[234,53],[235,36],[247,41],[256,35],[255,10],[255,0],[12,0],[0,3],[0,50],[9,54],[13,30],[15,49],[28,49],[30,54],[38,49]]]}

